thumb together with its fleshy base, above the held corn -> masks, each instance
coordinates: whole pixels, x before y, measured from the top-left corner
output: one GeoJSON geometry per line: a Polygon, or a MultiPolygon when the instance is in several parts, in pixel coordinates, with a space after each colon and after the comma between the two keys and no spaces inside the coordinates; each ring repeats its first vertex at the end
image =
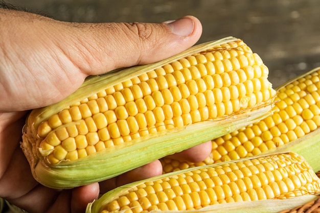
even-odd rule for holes
{"type": "Polygon", "coordinates": [[[72,23],[3,10],[0,19],[0,99],[10,100],[0,111],[56,103],[88,75],[168,58],[202,32],[193,16],[162,23],[72,23]]]}

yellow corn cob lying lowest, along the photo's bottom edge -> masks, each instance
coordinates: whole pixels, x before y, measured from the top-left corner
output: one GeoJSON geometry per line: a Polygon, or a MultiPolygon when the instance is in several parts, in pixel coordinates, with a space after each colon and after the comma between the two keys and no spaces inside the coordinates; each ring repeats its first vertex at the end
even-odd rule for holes
{"type": "Polygon", "coordinates": [[[201,212],[202,208],[208,210],[222,203],[318,193],[320,179],[307,161],[295,153],[279,153],[190,168],[127,184],[106,193],[93,206],[89,204],[87,213],[201,212]]]}

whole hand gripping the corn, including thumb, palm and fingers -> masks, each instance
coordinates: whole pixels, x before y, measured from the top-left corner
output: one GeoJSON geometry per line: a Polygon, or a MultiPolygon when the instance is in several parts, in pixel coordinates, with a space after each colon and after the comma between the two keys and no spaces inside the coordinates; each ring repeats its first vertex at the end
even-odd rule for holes
{"type": "MultiPolygon", "coordinates": [[[[47,188],[31,175],[19,147],[21,129],[28,110],[62,100],[88,75],[178,54],[201,31],[192,16],[171,23],[70,23],[0,9],[0,197],[30,213],[84,212],[99,193],[161,174],[157,160],[100,183],[47,188]]],[[[171,157],[197,162],[210,151],[204,143],[171,157]]]]}

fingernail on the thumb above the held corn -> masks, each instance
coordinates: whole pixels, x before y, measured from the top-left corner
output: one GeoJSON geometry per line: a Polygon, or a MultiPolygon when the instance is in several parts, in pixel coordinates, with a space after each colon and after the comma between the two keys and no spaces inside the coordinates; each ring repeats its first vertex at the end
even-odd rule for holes
{"type": "Polygon", "coordinates": [[[167,21],[172,33],[179,36],[188,36],[193,32],[194,22],[190,18],[181,18],[174,21],[167,21]]]}

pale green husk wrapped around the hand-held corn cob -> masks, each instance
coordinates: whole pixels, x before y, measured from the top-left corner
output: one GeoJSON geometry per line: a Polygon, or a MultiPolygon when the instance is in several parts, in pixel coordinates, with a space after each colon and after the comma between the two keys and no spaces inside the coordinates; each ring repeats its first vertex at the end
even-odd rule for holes
{"type": "Polygon", "coordinates": [[[237,114],[215,121],[199,122],[184,128],[165,130],[134,139],[124,145],[115,146],[76,161],[61,161],[54,165],[45,161],[39,153],[38,147],[42,139],[37,136],[38,126],[42,121],[47,120],[50,115],[61,111],[71,103],[79,102],[102,89],[139,76],[182,57],[211,49],[218,44],[237,40],[239,39],[227,37],[193,46],[181,54],[157,63],[134,66],[122,69],[121,72],[115,70],[105,75],[89,77],[70,97],[57,104],[33,110],[24,127],[21,147],[31,165],[34,178],[41,184],[53,188],[71,188],[102,181],[138,168],[155,159],[233,132],[269,115],[271,103],[264,103],[256,108],[240,111],[237,114]]]}

